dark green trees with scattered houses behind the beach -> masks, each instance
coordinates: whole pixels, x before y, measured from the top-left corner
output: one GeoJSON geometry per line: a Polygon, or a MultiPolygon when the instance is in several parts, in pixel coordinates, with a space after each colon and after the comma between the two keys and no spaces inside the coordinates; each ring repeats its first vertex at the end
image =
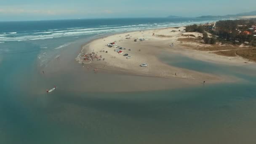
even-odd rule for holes
{"type": "Polygon", "coordinates": [[[186,32],[203,33],[203,41],[205,43],[215,44],[217,41],[221,43],[256,45],[256,19],[240,19],[240,20],[221,20],[216,24],[193,24],[187,26],[186,32]],[[208,37],[211,33],[213,37],[208,37]]]}

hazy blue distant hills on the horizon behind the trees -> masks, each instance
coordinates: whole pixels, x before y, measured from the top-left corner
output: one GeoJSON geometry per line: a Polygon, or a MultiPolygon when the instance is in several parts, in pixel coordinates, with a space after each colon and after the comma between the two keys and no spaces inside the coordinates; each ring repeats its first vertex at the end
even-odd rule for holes
{"type": "Polygon", "coordinates": [[[238,13],[238,14],[231,14],[231,15],[226,15],[226,16],[199,16],[197,18],[200,19],[224,19],[224,18],[235,18],[235,17],[240,17],[240,16],[256,16],[256,11],[251,11],[248,13],[238,13]]]}

